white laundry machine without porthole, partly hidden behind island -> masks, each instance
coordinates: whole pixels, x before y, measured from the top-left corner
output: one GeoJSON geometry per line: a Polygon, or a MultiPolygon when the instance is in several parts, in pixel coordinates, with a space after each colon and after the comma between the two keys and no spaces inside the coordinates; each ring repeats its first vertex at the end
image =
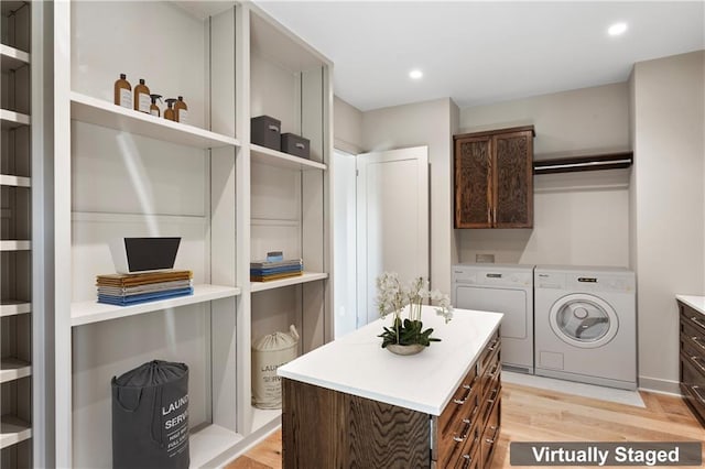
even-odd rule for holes
{"type": "Polygon", "coordinates": [[[453,266],[453,306],[503,313],[502,369],[533,374],[533,265],[453,266]]]}

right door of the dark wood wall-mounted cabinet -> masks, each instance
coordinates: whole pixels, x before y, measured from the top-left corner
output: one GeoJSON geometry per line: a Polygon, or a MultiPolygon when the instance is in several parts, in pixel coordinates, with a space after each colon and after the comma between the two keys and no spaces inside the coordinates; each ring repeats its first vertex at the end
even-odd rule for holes
{"type": "Polygon", "coordinates": [[[496,228],[530,228],[533,222],[532,135],[496,135],[496,228]]]}

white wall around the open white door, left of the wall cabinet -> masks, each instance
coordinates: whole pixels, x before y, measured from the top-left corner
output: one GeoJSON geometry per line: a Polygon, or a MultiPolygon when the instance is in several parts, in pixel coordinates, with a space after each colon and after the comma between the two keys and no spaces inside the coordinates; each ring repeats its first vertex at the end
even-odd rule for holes
{"type": "Polygon", "coordinates": [[[429,146],[431,164],[431,285],[451,292],[452,219],[452,116],[451,99],[367,111],[362,114],[366,151],[429,146]]]}

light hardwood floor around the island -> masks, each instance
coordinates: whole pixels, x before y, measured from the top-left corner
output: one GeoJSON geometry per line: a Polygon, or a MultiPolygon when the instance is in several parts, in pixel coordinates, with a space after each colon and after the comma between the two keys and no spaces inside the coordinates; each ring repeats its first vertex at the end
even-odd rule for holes
{"type": "MultiPolygon", "coordinates": [[[[509,441],[705,441],[705,429],[680,397],[641,392],[641,399],[646,408],[502,383],[491,469],[511,467],[509,441]]],[[[280,469],[281,445],[275,432],[226,469],[280,469]]]]}

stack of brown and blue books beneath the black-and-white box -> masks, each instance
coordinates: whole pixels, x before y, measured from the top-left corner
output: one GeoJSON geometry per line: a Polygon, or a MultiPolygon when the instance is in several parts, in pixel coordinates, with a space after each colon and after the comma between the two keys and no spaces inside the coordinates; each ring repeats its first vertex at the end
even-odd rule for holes
{"type": "Polygon", "coordinates": [[[193,295],[193,272],[158,271],[134,274],[107,274],[96,277],[98,303],[129,306],[193,295]]]}

